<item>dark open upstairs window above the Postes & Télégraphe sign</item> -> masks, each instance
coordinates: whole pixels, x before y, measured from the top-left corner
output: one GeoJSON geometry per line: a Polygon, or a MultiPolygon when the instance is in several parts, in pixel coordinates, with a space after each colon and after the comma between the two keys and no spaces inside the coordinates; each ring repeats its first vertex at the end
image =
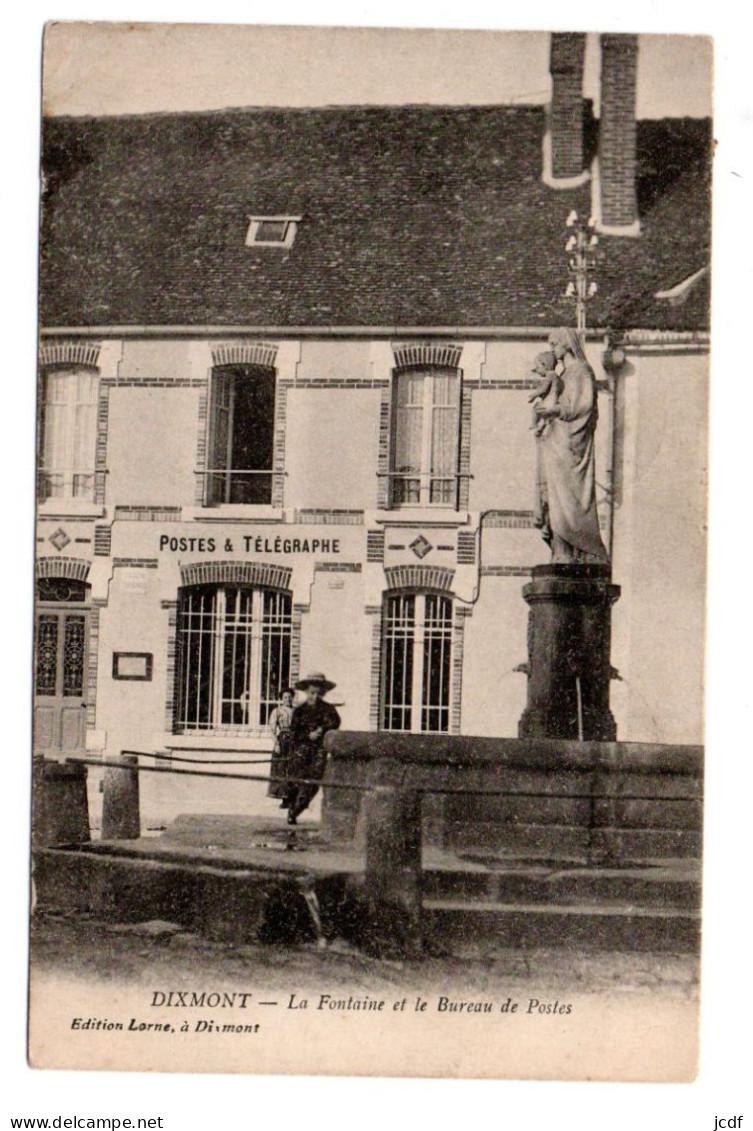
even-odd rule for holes
{"type": "Polygon", "coordinates": [[[270,503],[275,370],[231,365],[214,371],[206,502],[270,503]]]}

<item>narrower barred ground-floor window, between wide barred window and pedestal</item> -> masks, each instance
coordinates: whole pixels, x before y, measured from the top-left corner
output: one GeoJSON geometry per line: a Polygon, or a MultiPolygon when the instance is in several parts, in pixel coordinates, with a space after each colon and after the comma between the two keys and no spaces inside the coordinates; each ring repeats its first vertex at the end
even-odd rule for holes
{"type": "Polygon", "coordinates": [[[387,597],[382,639],[383,729],[449,731],[450,597],[435,593],[387,597]]]}

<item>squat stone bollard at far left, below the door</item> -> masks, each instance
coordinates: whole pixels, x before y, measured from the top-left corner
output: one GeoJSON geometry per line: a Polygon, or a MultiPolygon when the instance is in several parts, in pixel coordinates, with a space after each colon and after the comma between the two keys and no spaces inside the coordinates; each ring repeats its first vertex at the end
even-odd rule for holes
{"type": "Polygon", "coordinates": [[[33,760],[32,847],[87,844],[89,806],[86,766],[33,760]]]}

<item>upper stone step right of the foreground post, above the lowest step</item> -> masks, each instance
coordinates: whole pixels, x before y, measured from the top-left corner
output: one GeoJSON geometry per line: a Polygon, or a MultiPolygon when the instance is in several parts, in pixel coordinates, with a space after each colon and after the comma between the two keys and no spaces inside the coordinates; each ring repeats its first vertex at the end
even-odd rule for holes
{"type": "Polygon", "coordinates": [[[424,899],[527,904],[622,901],[640,907],[698,908],[701,881],[676,869],[566,869],[490,865],[490,871],[429,867],[424,899]]]}

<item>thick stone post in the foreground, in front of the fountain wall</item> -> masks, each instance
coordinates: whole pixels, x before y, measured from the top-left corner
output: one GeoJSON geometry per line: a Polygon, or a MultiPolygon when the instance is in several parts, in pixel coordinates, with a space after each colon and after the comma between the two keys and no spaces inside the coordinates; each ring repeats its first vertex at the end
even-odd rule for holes
{"type": "Polygon", "coordinates": [[[364,797],[363,943],[378,955],[417,957],[422,950],[421,794],[393,784],[389,780],[393,776],[390,762],[378,762],[374,785],[364,797]]]}

